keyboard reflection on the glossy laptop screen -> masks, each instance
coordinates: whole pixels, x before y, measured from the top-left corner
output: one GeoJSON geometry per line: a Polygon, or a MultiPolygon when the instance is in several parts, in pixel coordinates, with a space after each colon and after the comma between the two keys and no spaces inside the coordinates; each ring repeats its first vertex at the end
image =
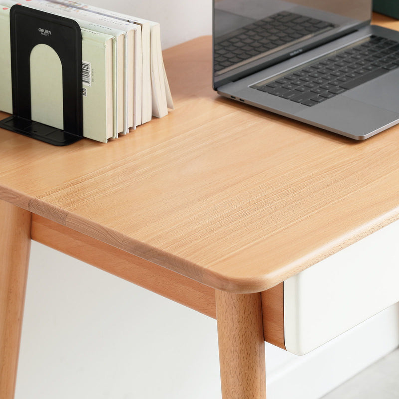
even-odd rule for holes
{"type": "Polygon", "coordinates": [[[214,70],[219,72],[334,26],[320,19],[287,11],[279,12],[244,26],[215,43],[214,70]]]}

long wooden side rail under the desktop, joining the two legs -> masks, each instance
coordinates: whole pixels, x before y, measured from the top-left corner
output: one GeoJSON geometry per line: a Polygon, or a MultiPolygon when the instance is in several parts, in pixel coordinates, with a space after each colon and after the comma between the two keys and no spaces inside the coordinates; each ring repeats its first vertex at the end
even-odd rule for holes
{"type": "Polygon", "coordinates": [[[37,215],[32,239],[216,318],[215,290],[195,280],[37,215]]]}

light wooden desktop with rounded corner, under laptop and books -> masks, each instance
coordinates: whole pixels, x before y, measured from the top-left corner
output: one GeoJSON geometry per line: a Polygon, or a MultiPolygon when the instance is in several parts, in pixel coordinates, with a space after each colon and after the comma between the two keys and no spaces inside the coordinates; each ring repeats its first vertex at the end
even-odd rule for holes
{"type": "Polygon", "coordinates": [[[164,61],[176,109],[116,141],[53,147],[0,129],[0,198],[233,292],[399,218],[399,126],[356,142],[224,99],[209,37],[164,61]]]}

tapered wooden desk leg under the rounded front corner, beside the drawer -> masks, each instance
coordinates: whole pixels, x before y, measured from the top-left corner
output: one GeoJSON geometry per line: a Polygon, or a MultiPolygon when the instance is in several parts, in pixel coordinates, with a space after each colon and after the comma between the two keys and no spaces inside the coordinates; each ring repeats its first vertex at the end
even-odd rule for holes
{"type": "Polygon", "coordinates": [[[260,294],[216,290],[223,399],[265,399],[266,369],[260,294]]]}

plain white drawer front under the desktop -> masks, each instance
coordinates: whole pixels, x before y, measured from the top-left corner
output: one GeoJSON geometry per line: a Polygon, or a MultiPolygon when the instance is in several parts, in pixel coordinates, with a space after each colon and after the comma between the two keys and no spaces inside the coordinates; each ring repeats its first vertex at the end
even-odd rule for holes
{"type": "Polygon", "coordinates": [[[303,355],[399,301],[399,221],[284,282],[284,342],[303,355]]]}

